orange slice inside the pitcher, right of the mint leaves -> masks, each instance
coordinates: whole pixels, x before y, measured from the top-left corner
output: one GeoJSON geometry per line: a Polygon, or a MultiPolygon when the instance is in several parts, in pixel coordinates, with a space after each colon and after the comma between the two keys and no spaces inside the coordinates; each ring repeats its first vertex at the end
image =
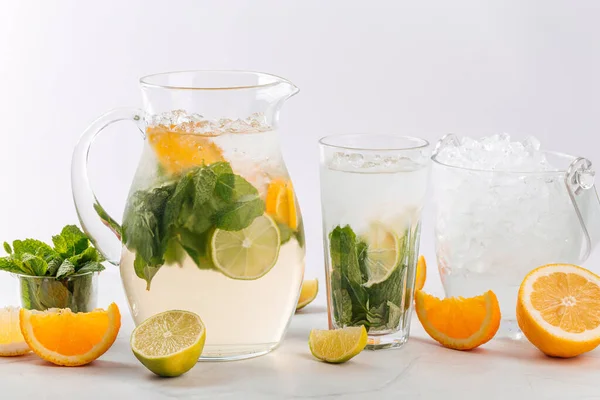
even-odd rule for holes
{"type": "Polygon", "coordinates": [[[298,214],[296,212],[296,196],[292,182],[285,179],[274,179],[269,183],[266,200],[267,213],[278,222],[286,224],[291,229],[298,229],[298,214]]]}

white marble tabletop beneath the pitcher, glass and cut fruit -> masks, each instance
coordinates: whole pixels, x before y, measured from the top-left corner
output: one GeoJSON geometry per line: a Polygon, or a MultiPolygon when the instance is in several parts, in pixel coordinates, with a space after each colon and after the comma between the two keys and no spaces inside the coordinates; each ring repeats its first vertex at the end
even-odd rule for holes
{"type": "Polygon", "coordinates": [[[308,333],[326,326],[322,302],[294,316],[281,347],[251,360],[199,363],[178,378],[159,378],[134,358],[133,324],[123,310],[114,346],[79,368],[34,355],[0,358],[0,399],[600,399],[600,350],[570,360],[543,356],[526,341],[493,340],[459,352],[442,348],[417,319],[399,350],[364,351],[329,365],[308,350],[308,333]]]}

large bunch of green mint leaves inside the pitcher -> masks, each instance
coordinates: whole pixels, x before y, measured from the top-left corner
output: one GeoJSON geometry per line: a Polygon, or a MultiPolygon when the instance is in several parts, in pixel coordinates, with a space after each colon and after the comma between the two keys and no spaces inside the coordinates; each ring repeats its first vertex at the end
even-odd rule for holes
{"type": "Polygon", "coordinates": [[[242,230],[264,212],[258,190],[234,174],[229,163],[218,162],[133,193],[123,217],[122,240],[136,252],[135,273],[149,290],[162,265],[181,263],[185,253],[199,268],[212,268],[212,230],[242,230]]]}

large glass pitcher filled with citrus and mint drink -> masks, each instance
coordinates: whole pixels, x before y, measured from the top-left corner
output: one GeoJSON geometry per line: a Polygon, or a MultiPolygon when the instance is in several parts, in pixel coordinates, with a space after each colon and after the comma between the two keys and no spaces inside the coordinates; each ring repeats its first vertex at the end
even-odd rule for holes
{"type": "Polygon", "coordinates": [[[266,354],[283,338],[304,273],[304,230],[278,138],[279,111],[298,92],[241,71],[164,73],[140,80],[144,110],[111,111],[73,154],[84,230],[120,265],[136,324],[197,313],[202,359],[266,354]],[[87,154],[107,125],[133,121],[144,149],[122,224],[96,200],[87,154]]]}

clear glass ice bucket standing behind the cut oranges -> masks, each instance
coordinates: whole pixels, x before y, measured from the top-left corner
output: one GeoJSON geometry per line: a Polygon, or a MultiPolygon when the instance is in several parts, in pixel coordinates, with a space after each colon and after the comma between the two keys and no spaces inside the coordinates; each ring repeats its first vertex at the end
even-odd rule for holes
{"type": "Polygon", "coordinates": [[[446,296],[493,290],[500,302],[499,334],[521,333],[515,309],[528,272],[552,263],[581,265],[600,240],[600,202],[591,162],[544,152],[543,172],[476,170],[432,156],[437,263],[446,296]]]}

